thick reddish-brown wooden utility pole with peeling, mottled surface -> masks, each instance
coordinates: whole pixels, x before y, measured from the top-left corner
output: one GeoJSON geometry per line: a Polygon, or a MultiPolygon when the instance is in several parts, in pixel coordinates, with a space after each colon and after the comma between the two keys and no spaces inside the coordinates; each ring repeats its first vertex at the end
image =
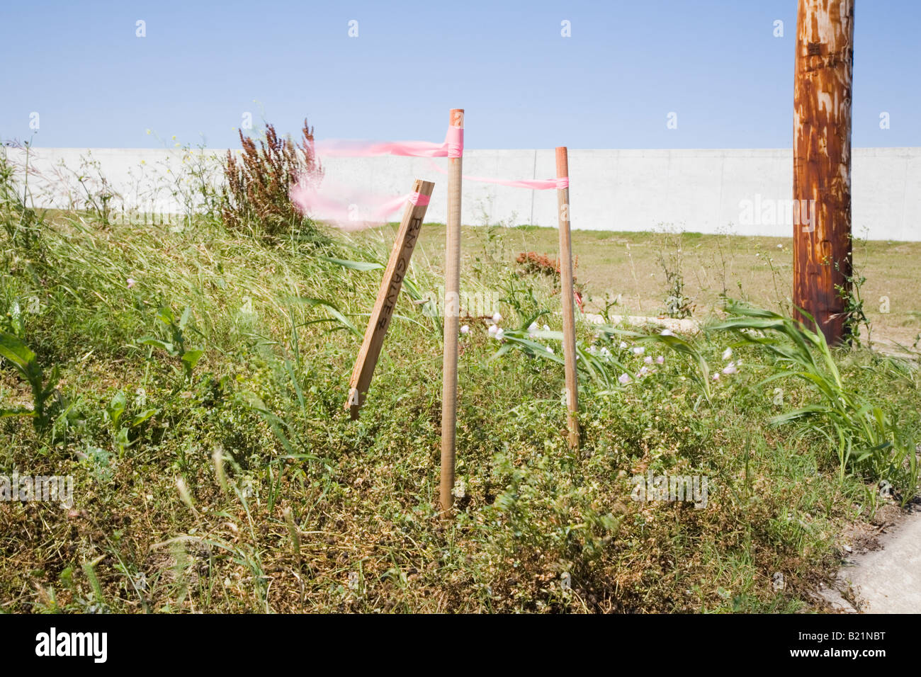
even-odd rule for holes
{"type": "Polygon", "coordinates": [[[793,94],[793,303],[848,336],[854,0],[799,0],[793,94]]]}

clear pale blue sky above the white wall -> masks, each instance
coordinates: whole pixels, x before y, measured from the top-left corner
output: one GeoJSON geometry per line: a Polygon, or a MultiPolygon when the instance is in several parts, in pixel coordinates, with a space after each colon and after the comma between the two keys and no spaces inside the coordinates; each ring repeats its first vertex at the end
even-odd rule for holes
{"type": "MultiPolygon", "coordinates": [[[[251,112],[295,133],[306,116],[320,138],[440,141],[461,107],[471,148],[789,147],[796,6],[5,2],[0,137],[237,147],[251,112]]],[[[857,0],[855,26],[855,146],[921,146],[921,2],[857,0]]]]}

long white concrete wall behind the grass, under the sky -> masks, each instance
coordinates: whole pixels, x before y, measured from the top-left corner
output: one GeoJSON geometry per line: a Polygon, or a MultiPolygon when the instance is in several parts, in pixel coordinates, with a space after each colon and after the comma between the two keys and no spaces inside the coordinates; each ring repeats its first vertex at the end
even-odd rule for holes
{"type": "MultiPolygon", "coordinates": [[[[21,150],[6,150],[21,161],[21,150]]],[[[35,148],[31,152],[37,170],[31,181],[43,204],[66,206],[75,195],[79,197],[73,172],[60,165],[63,162],[79,171],[86,150],[35,148]]],[[[223,157],[226,151],[210,152],[223,157]]],[[[169,211],[170,200],[177,199],[170,193],[181,185],[181,150],[97,148],[90,151],[90,157],[132,204],[146,200],[157,204],[158,211],[169,211]]],[[[433,169],[433,163],[446,167],[444,159],[395,157],[329,158],[324,166],[330,181],[387,196],[408,192],[414,178],[435,181],[428,217],[444,221],[447,177],[433,169]]],[[[704,233],[728,230],[740,235],[789,237],[793,226],[788,209],[773,217],[765,209],[789,201],[792,165],[789,149],[571,150],[572,225],[649,230],[664,224],[704,233]],[[747,213],[744,201],[749,201],[747,213]]],[[[550,179],[554,177],[554,151],[467,150],[464,174],[550,179]]],[[[465,181],[462,208],[467,224],[556,225],[554,191],[465,181]]],[[[181,211],[178,207],[172,210],[181,211]]],[[[857,237],[921,240],[921,147],[854,150],[853,228],[857,237]]]]}

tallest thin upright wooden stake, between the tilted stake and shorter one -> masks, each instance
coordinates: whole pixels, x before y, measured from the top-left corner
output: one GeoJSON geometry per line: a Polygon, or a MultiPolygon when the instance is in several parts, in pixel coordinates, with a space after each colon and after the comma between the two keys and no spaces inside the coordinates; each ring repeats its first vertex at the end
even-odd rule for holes
{"type": "MultiPolygon", "coordinates": [[[[451,127],[463,130],[463,109],[450,112],[451,127]]],[[[461,132],[462,134],[462,132],[461,132]]],[[[462,155],[449,158],[448,227],[445,249],[445,354],[441,387],[441,484],[439,504],[447,516],[454,502],[454,444],[457,434],[458,333],[461,315],[462,155]]]]}

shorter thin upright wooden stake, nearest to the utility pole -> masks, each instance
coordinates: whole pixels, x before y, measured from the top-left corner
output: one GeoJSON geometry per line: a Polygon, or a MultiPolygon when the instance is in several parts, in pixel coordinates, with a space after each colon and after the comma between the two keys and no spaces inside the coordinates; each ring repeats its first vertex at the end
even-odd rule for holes
{"type": "Polygon", "coordinates": [[[578,379],[576,372],[576,317],[573,289],[573,249],[569,238],[569,158],[566,146],[556,148],[556,178],[565,179],[557,189],[560,216],[560,278],[563,289],[563,359],[566,372],[566,409],[569,411],[569,448],[578,448],[578,379]]]}

